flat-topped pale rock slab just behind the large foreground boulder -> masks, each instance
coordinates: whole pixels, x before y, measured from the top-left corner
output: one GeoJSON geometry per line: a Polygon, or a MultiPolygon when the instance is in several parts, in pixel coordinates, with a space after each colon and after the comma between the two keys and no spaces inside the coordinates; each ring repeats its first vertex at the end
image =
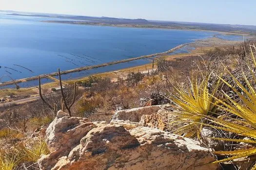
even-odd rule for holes
{"type": "Polygon", "coordinates": [[[119,110],[117,111],[112,119],[118,120],[130,120],[133,122],[139,122],[142,115],[152,115],[153,113],[157,113],[158,110],[162,108],[168,107],[168,105],[153,105],[147,107],[138,107],[127,110],[119,110]]]}

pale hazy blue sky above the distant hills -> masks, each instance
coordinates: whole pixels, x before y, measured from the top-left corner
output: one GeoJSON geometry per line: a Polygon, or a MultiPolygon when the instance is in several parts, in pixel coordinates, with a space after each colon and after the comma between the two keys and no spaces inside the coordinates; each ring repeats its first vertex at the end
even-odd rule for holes
{"type": "Polygon", "coordinates": [[[0,10],[256,25],[256,0],[0,0],[0,10]]]}

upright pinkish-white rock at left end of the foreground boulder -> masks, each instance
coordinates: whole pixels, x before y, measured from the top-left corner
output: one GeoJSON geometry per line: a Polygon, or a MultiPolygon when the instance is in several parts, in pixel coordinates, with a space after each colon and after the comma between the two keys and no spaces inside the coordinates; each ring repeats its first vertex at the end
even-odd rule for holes
{"type": "MultiPolygon", "coordinates": [[[[46,130],[46,143],[53,158],[51,162],[46,164],[57,163],[61,154],[68,154],[77,146],[80,139],[94,127],[96,125],[84,118],[55,118],[46,130]]],[[[42,164],[45,164],[44,160],[42,160],[42,164]]],[[[51,168],[46,166],[44,169],[48,170],[51,168]]]]}

